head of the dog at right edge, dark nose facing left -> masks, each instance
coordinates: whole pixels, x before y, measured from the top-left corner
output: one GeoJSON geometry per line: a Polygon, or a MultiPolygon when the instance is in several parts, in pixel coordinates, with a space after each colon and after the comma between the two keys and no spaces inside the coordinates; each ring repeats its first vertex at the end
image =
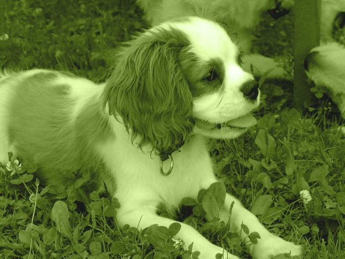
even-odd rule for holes
{"type": "Polygon", "coordinates": [[[315,86],[345,114],[345,47],[335,42],[315,47],[305,58],[304,67],[315,86]]]}

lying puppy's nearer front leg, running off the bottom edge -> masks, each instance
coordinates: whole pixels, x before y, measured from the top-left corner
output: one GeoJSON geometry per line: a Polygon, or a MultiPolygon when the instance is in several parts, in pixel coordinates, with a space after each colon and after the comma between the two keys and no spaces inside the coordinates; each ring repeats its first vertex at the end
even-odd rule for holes
{"type": "MultiPolygon", "coordinates": [[[[121,204],[122,205],[125,204],[121,204]]],[[[123,206],[126,207],[126,206],[123,206]]],[[[143,229],[153,224],[169,227],[173,222],[171,219],[158,216],[155,207],[138,207],[132,210],[118,209],[116,219],[120,226],[124,224],[130,224],[131,226],[138,226],[139,229],[143,229]]],[[[214,259],[216,254],[223,254],[223,258],[226,259],[239,259],[238,257],[227,253],[223,248],[218,247],[210,243],[205,237],[203,237],[193,227],[178,222],[181,224],[180,231],[175,235],[175,238],[182,238],[186,246],[188,247],[193,243],[193,251],[199,251],[201,254],[200,259],[214,259]]]]}

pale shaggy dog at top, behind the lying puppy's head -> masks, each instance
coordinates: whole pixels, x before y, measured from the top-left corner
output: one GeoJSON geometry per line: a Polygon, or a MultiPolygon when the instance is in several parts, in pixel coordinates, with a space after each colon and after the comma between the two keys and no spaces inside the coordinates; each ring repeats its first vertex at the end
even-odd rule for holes
{"type": "MultiPolygon", "coordinates": [[[[285,71],[271,58],[250,53],[253,29],[263,11],[274,8],[275,0],[137,0],[146,20],[157,25],[172,18],[197,15],[224,25],[242,49],[242,68],[258,76],[273,69],[268,77],[284,78],[285,71]]],[[[291,8],[292,0],[283,0],[281,7],[291,8]]]]}

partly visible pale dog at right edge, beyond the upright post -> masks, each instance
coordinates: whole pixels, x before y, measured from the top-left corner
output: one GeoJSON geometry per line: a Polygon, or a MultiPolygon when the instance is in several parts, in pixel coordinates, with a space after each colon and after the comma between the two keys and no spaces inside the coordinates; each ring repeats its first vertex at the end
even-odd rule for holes
{"type": "Polygon", "coordinates": [[[305,58],[304,67],[316,87],[322,88],[344,115],[345,46],[335,42],[332,33],[335,25],[340,29],[344,27],[345,2],[322,0],[321,3],[321,44],[305,58]]]}

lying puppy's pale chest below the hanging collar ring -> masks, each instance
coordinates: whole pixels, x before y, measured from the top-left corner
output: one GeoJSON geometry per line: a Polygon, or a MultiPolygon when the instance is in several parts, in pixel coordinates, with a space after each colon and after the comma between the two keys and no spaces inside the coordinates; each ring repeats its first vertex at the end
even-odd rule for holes
{"type": "MultiPolygon", "coordinates": [[[[195,136],[180,152],[173,153],[173,171],[169,176],[161,174],[159,156],[143,153],[128,137],[117,138],[102,149],[116,182],[114,195],[120,203],[121,200],[136,202],[140,196],[148,203],[177,207],[183,197],[196,198],[201,188],[208,187],[204,183],[214,179],[211,159],[201,136],[195,136]]],[[[169,160],[164,162],[164,168],[167,167],[169,160]]]]}

